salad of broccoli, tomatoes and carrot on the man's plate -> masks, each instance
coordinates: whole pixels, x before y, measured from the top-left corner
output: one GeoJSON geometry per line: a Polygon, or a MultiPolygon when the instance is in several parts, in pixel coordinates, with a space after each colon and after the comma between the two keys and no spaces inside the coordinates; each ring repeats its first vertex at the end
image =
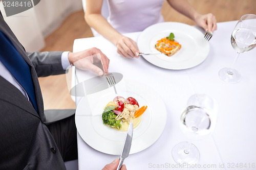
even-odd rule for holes
{"type": "Polygon", "coordinates": [[[136,128],[146,108],[147,106],[139,108],[139,103],[132,97],[124,99],[117,96],[104,108],[102,113],[103,124],[119,131],[127,131],[129,124],[133,122],[134,128],[136,128]]]}

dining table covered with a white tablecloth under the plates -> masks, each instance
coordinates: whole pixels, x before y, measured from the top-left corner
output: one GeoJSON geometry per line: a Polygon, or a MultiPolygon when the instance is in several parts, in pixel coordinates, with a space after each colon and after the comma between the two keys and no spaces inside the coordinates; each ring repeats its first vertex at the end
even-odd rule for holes
{"type": "MultiPolygon", "coordinates": [[[[164,108],[159,111],[165,113],[154,112],[154,116],[165,115],[163,128],[151,134],[152,137],[155,133],[158,135],[154,142],[130,153],[124,160],[127,169],[256,169],[256,50],[240,54],[234,64],[241,74],[240,82],[226,83],[218,76],[219,70],[231,66],[237,55],[230,43],[236,23],[237,20],[218,22],[212,38],[205,42],[209,44],[209,51],[204,61],[185,69],[156,66],[146,60],[146,57],[154,57],[152,55],[122,57],[117,53],[117,47],[102,36],[74,40],[73,52],[99,48],[110,59],[109,72],[120,73],[122,80],[144,84],[148,93],[156,95],[156,99],[163,103],[161,107],[164,108]],[[193,94],[211,96],[218,110],[214,130],[202,138],[191,139],[180,127],[180,116],[193,94]],[[190,141],[198,148],[200,158],[196,164],[181,166],[174,161],[172,149],[182,141],[190,141]]],[[[199,27],[190,27],[198,29],[204,36],[199,27]]],[[[137,42],[142,33],[123,35],[137,42]]],[[[76,68],[74,81],[82,82],[96,76],[93,72],[76,68]]],[[[116,88],[118,91],[118,86],[116,88]]],[[[87,95],[75,96],[77,107],[82,105],[83,98],[87,95]]],[[[79,129],[77,144],[79,169],[102,169],[121,154],[104,153],[91,147],[79,134],[79,129]]],[[[143,145],[143,142],[140,144],[143,145]]],[[[103,143],[104,147],[108,148],[108,145],[103,143]]]]}

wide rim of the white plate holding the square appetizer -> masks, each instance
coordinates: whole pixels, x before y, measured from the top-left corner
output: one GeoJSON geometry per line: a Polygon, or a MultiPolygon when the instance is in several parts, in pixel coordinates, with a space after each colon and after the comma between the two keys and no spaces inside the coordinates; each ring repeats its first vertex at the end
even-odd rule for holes
{"type": "MultiPolygon", "coordinates": [[[[150,27],[147,27],[144,31],[142,31],[142,33],[138,37],[137,44],[138,44],[139,50],[141,52],[158,52],[157,50],[152,50],[152,48],[154,47],[149,48],[145,44],[148,44],[152,36],[155,36],[156,34],[158,34],[158,32],[163,32],[163,31],[167,32],[168,30],[170,30],[169,32],[175,32],[175,31],[183,32],[184,36],[190,38],[191,40],[194,39],[196,41],[197,47],[199,48],[197,50],[197,54],[191,56],[188,60],[185,60],[184,62],[179,62],[179,63],[159,60],[158,57],[161,55],[166,57],[164,54],[160,54],[158,56],[142,55],[142,57],[146,61],[161,68],[180,70],[180,69],[195,67],[201,64],[207,58],[210,50],[210,45],[209,45],[209,42],[205,40],[204,34],[201,31],[199,31],[197,28],[186,25],[185,23],[180,23],[180,22],[160,22],[150,27]]],[[[184,50],[184,49],[181,48],[181,50],[184,50]]],[[[178,53],[179,52],[177,52],[177,54],[171,57],[177,57],[178,53]]]]}

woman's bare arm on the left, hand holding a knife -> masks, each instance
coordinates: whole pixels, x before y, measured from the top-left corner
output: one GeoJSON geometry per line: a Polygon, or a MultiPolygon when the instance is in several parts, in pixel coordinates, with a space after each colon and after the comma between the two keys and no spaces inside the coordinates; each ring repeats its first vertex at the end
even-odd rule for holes
{"type": "Polygon", "coordinates": [[[124,57],[138,57],[139,50],[136,42],[120,34],[101,15],[102,4],[103,0],[86,1],[86,13],[84,14],[84,18],[88,25],[115,44],[118,54],[124,57]]]}

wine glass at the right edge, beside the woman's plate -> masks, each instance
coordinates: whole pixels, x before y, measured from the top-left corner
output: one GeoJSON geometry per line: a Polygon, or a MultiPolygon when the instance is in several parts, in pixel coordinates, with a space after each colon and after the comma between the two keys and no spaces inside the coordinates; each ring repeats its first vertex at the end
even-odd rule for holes
{"type": "Polygon", "coordinates": [[[256,15],[245,14],[240,18],[231,34],[231,44],[238,53],[237,57],[231,67],[219,71],[219,77],[224,82],[237,83],[241,80],[241,75],[233,66],[240,53],[248,52],[256,46],[256,15]]]}

